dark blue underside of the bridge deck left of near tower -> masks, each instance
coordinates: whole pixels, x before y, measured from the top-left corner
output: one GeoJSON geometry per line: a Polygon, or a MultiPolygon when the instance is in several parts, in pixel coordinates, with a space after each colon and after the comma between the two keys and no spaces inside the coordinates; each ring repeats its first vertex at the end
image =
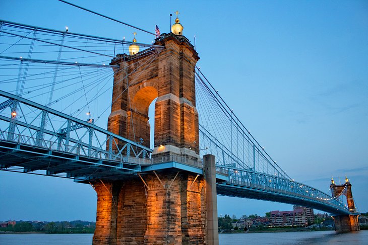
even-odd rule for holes
{"type": "Polygon", "coordinates": [[[139,165],[88,157],[43,147],[0,141],[1,169],[14,167],[33,172],[45,170],[46,175],[66,173],[68,178],[116,179],[118,176],[139,172],[139,165]]]}

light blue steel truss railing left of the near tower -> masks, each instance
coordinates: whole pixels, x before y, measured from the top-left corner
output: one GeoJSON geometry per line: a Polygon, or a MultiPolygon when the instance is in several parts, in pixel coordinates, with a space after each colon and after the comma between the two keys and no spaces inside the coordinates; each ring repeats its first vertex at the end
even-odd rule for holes
{"type": "Polygon", "coordinates": [[[83,121],[4,91],[1,99],[6,102],[0,103],[5,105],[0,108],[2,140],[115,162],[151,162],[150,148],[102,129],[92,119],[83,121]]]}

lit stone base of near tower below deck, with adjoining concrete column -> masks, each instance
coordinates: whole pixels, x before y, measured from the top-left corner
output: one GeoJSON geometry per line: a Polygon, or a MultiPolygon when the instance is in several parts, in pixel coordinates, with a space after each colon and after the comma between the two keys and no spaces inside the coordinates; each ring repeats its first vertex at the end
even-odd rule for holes
{"type": "Polygon", "coordinates": [[[93,244],[218,244],[214,156],[205,176],[160,171],[97,182],[93,244]]]}

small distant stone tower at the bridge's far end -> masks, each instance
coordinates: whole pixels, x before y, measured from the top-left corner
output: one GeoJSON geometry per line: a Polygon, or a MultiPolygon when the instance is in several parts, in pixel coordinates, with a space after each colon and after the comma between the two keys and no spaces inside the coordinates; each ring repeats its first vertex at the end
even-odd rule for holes
{"type": "Polygon", "coordinates": [[[347,199],[347,207],[351,214],[348,215],[335,215],[333,216],[335,220],[335,230],[338,232],[348,232],[348,231],[358,231],[359,222],[358,222],[358,213],[356,212],[356,208],[354,205],[353,194],[351,192],[351,184],[349,179],[345,178],[345,183],[342,185],[336,185],[335,181],[331,180],[330,189],[332,192],[332,197],[337,197],[340,195],[346,196],[347,199]]]}

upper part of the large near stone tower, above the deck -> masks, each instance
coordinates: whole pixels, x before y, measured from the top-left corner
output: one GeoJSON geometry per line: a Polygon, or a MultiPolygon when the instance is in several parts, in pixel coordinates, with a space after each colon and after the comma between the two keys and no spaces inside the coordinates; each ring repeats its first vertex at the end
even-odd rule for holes
{"type": "MultiPolygon", "coordinates": [[[[175,22],[173,30],[177,32],[181,27],[178,33],[182,33],[179,19],[175,22]]],[[[107,130],[136,142],[143,141],[149,147],[148,108],[157,98],[153,158],[180,155],[198,160],[194,73],[198,53],[181,34],[162,34],[155,44],[165,46],[155,58],[137,53],[138,46],[132,45],[131,55],[117,55],[112,60],[111,64],[120,67],[115,69],[107,130]]]]}

